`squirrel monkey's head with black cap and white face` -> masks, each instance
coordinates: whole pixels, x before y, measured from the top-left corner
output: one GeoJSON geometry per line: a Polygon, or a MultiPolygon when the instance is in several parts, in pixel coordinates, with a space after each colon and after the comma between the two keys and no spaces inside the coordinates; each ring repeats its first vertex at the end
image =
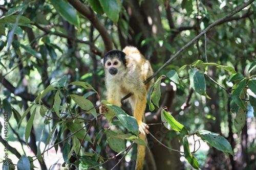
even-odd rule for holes
{"type": "Polygon", "coordinates": [[[117,75],[119,72],[123,72],[123,70],[126,69],[125,56],[125,53],[118,50],[112,50],[106,53],[103,58],[105,71],[108,71],[112,76],[117,75]]]}

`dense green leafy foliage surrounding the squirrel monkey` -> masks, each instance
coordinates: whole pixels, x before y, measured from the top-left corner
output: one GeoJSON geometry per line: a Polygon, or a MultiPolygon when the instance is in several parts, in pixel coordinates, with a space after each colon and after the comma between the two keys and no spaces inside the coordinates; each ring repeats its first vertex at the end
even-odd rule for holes
{"type": "MultiPolygon", "coordinates": [[[[103,100],[100,59],[113,45],[120,48],[125,43],[137,45],[147,58],[152,56],[157,80],[147,94],[147,104],[159,116],[159,122],[150,126],[160,123],[175,132],[174,137],[168,133],[164,140],[150,136],[166,150],[183,155],[195,169],[203,167],[196,156],[196,143],[200,145],[200,141],[227,157],[236,155],[236,145],[229,140],[233,139],[232,131],[240,136],[249,112],[256,115],[256,40],[251,38],[255,37],[255,2],[152,2],[165,10],[160,19],[146,13],[150,10],[144,7],[151,3],[145,1],[131,1],[133,8],[120,0],[4,2],[0,8],[0,99],[1,112],[7,118],[1,120],[0,129],[2,136],[13,132],[16,140],[28,145],[36,156],[9,147],[19,160],[7,159],[7,164],[4,160],[3,169],[37,168],[36,160],[44,169],[43,158],[52,148],[61,151],[61,163],[67,168],[107,169],[108,162],[118,158],[117,166],[130,156],[135,144],[147,145],[139,138],[136,119],[103,100]],[[241,11],[244,7],[247,9],[241,11]],[[134,11],[141,20],[136,22],[134,11]],[[144,15],[148,15],[148,25],[143,28],[144,15]],[[177,22],[174,24],[170,17],[177,22]],[[177,56],[179,61],[175,60],[177,56]],[[177,87],[178,96],[172,111],[163,103],[167,92],[161,88],[170,82],[177,87]],[[191,104],[198,101],[204,107],[191,104]],[[109,111],[99,114],[100,105],[109,111]],[[217,114],[209,111],[213,106],[220,107],[217,114]],[[216,118],[223,124],[231,119],[230,128],[207,129],[207,122],[216,118]],[[194,141],[189,141],[191,136],[194,141]],[[180,139],[183,151],[169,147],[173,138],[180,139]],[[194,142],[194,150],[189,142],[194,142]],[[116,153],[109,154],[110,149],[116,153]]],[[[4,140],[1,137],[1,142],[4,140]]],[[[255,143],[251,155],[253,146],[255,143]]]]}

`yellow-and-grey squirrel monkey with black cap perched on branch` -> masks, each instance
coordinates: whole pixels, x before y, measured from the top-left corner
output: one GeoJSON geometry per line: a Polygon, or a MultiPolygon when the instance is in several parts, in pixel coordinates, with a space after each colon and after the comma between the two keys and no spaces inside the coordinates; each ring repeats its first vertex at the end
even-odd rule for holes
{"type": "MultiPolygon", "coordinates": [[[[132,106],[134,117],[139,125],[140,138],[146,140],[145,132],[149,128],[145,123],[146,95],[154,80],[144,82],[153,75],[151,64],[134,46],[126,46],[123,51],[112,50],[102,59],[105,70],[107,101],[121,107],[121,98],[132,93],[127,100],[132,106]]],[[[100,113],[106,112],[104,106],[100,113]]],[[[136,170],[143,168],[145,146],[138,145],[136,170]]]]}

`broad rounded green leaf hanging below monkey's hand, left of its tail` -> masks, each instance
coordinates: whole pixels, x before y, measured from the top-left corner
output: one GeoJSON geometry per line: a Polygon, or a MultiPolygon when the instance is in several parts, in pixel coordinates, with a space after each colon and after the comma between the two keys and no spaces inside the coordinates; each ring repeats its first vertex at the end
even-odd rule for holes
{"type": "Polygon", "coordinates": [[[125,143],[123,139],[115,137],[117,135],[116,132],[111,130],[106,130],[106,140],[108,141],[110,148],[119,153],[125,149],[125,143]]]}

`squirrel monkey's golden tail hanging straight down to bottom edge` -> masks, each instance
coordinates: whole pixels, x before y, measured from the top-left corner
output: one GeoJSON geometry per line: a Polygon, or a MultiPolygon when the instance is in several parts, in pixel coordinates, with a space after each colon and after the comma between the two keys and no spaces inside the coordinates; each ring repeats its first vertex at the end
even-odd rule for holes
{"type": "MultiPolygon", "coordinates": [[[[146,141],[146,135],[140,134],[140,139],[146,141]]],[[[146,147],[144,145],[138,144],[138,153],[137,153],[135,170],[143,169],[143,162],[144,162],[144,158],[145,158],[145,149],[146,149],[146,147]]]]}

